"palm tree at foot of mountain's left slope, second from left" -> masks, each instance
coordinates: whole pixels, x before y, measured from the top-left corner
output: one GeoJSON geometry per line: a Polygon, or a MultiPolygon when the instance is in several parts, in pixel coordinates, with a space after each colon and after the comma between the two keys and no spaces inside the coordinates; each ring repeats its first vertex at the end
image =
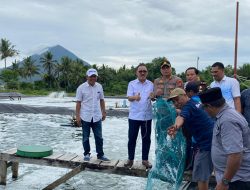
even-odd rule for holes
{"type": "Polygon", "coordinates": [[[23,60],[23,68],[22,68],[22,73],[24,78],[30,78],[34,76],[35,74],[39,74],[39,69],[35,65],[35,60],[31,59],[31,56],[25,58],[23,60]]]}

